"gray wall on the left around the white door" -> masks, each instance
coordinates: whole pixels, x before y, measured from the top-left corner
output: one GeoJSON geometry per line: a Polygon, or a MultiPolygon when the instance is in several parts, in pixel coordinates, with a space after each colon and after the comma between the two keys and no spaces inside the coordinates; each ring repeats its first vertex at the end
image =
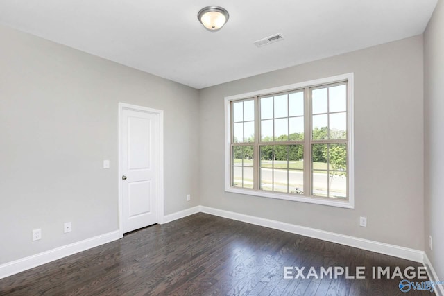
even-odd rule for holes
{"type": "Polygon", "coordinates": [[[200,204],[196,89],[6,27],[0,41],[0,264],[119,228],[119,102],[164,110],[165,214],[200,204]]]}

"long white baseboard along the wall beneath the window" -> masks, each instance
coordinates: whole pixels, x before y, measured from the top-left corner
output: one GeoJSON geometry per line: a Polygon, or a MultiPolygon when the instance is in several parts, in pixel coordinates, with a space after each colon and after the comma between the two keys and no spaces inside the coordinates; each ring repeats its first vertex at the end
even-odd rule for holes
{"type": "Polygon", "coordinates": [[[330,241],[332,243],[340,243],[341,245],[349,245],[350,247],[357,247],[359,249],[395,256],[415,262],[422,263],[424,259],[424,252],[420,250],[409,249],[407,247],[400,247],[398,245],[389,245],[387,243],[369,241],[364,238],[346,236],[343,234],[336,234],[334,232],[325,232],[319,229],[293,225],[265,218],[258,218],[255,216],[248,216],[244,214],[234,213],[232,211],[223,211],[221,209],[214,209],[211,207],[200,206],[200,211],[215,216],[221,216],[224,218],[238,220],[250,224],[278,229],[284,232],[291,232],[293,234],[300,234],[302,236],[309,236],[311,238],[318,238],[323,241],[330,241]]]}

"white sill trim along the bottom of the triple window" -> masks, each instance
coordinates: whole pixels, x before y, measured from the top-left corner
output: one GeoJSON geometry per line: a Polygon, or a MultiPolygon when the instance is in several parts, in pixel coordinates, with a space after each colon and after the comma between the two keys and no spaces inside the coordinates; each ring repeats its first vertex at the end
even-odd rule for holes
{"type": "Polygon", "coordinates": [[[346,209],[355,209],[352,198],[348,200],[334,200],[333,198],[318,198],[305,195],[288,195],[284,193],[267,192],[262,190],[241,189],[232,186],[225,186],[225,192],[238,193],[244,195],[254,195],[262,198],[275,198],[278,200],[291,200],[293,202],[306,202],[309,204],[322,204],[330,207],[342,207],[346,209]]]}

